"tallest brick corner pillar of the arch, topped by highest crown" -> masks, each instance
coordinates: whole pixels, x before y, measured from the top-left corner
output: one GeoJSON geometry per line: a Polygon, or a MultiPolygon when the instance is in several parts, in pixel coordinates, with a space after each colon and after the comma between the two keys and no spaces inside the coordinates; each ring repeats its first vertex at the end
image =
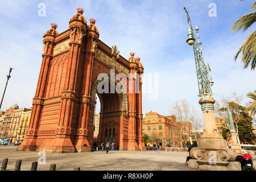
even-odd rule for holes
{"type": "MultiPolygon", "coordinates": [[[[79,10],[78,10],[79,11],[79,10]]],[[[78,15],[81,15],[79,11],[78,15]]],[[[81,64],[82,40],[86,35],[85,20],[71,19],[69,22],[69,55],[67,63],[67,75],[64,81],[64,90],[61,92],[60,118],[56,127],[56,135],[47,151],[51,152],[75,152],[76,148],[71,139],[71,126],[73,109],[77,97],[79,97],[76,85],[79,83],[78,70],[81,64]]]]}

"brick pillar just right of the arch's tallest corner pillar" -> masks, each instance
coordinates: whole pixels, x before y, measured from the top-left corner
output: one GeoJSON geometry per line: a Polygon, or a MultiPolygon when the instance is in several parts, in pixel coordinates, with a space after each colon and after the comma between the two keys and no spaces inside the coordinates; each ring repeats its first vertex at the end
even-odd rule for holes
{"type": "Polygon", "coordinates": [[[92,110],[94,114],[94,107],[96,102],[92,101],[90,98],[90,92],[92,87],[92,70],[93,70],[93,60],[95,56],[95,51],[97,48],[97,42],[99,38],[97,27],[94,25],[95,19],[90,19],[90,25],[86,30],[86,46],[85,46],[85,63],[84,63],[84,73],[82,80],[82,97],[80,104],[79,113],[79,126],[77,129],[77,142],[76,150],[91,151],[93,149],[93,120],[89,120],[89,111],[92,110]],[[90,123],[89,123],[90,122],[90,123]],[[89,125],[88,125],[89,124],[89,125]],[[84,146],[86,144],[86,146],[84,146]]]}

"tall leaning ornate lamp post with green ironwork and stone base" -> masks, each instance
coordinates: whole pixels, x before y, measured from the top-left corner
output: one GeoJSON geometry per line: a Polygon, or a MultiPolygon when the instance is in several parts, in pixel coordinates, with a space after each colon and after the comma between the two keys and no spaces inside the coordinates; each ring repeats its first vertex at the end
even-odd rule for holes
{"type": "Polygon", "coordinates": [[[205,131],[201,138],[198,139],[198,147],[191,149],[190,154],[193,159],[189,160],[190,168],[201,168],[210,170],[241,170],[241,166],[236,160],[237,153],[231,150],[226,140],[218,135],[214,117],[214,99],[212,98],[212,76],[210,76],[209,64],[204,63],[203,53],[199,38],[199,27],[196,26],[196,36],[193,31],[191,19],[187,9],[188,20],[188,39],[189,46],[193,45],[195,55],[197,81],[199,86],[199,104],[203,111],[205,131]]]}

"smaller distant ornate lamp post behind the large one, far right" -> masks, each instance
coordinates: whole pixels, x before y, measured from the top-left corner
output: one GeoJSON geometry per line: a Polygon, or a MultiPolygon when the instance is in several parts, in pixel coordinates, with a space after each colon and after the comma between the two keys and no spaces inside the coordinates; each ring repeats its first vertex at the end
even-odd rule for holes
{"type": "Polygon", "coordinates": [[[238,135],[236,133],[236,129],[234,128],[233,118],[232,118],[232,115],[230,113],[228,105],[226,105],[226,109],[228,110],[229,130],[230,130],[231,137],[232,137],[232,146],[231,146],[231,148],[232,148],[232,150],[236,151],[237,154],[242,154],[243,150],[242,150],[242,147],[240,145],[239,138],[238,138],[238,135]]]}

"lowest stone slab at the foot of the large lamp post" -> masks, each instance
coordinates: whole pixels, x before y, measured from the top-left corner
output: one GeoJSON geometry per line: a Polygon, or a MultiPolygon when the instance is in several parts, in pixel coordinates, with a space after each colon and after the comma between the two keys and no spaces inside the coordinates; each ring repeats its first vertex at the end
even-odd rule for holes
{"type": "Polygon", "coordinates": [[[205,171],[241,171],[240,162],[217,161],[215,163],[209,163],[209,160],[190,159],[188,167],[205,171]]]}

